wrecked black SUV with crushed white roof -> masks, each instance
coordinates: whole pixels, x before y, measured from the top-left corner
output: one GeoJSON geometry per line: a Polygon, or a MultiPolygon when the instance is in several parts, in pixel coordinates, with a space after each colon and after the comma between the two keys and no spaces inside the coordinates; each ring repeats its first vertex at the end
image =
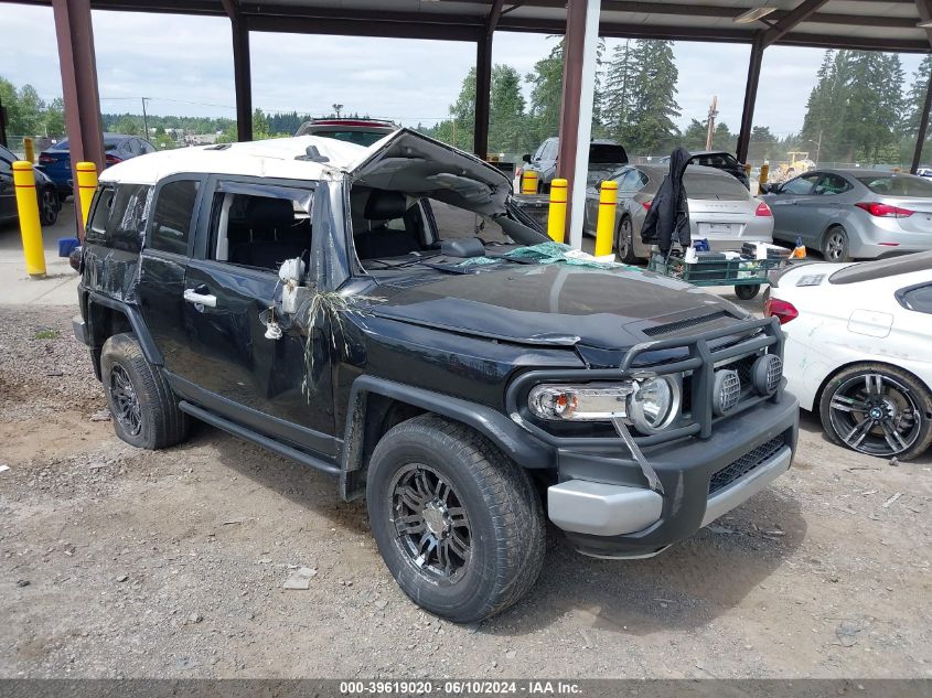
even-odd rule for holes
{"type": "Polygon", "coordinates": [[[546,516],[583,554],[652,556],[789,468],[778,320],[566,258],[510,196],[406,129],[106,170],[74,327],[117,434],[170,447],[193,417],[333,475],[458,622],[532,587],[546,516]]]}

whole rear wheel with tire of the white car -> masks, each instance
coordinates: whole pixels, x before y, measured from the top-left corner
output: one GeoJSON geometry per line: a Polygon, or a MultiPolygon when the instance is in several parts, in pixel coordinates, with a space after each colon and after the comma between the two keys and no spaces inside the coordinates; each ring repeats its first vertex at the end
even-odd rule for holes
{"type": "Polygon", "coordinates": [[[868,455],[909,460],[932,443],[932,395],[893,366],[861,364],[833,376],[819,412],[831,441],[868,455]]]}

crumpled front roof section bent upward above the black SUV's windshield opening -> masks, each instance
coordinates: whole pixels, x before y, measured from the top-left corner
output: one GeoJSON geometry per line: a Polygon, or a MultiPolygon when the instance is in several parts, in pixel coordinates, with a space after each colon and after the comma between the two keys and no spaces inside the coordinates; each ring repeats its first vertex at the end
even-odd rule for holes
{"type": "Polygon", "coordinates": [[[369,146],[346,170],[365,186],[427,196],[486,216],[505,213],[512,189],[497,168],[404,128],[369,146]]]}

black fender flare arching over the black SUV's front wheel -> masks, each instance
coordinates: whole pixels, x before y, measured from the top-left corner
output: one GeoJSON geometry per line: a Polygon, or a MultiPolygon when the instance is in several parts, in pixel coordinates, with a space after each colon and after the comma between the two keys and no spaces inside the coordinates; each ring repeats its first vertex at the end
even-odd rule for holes
{"type": "Polygon", "coordinates": [[[491,407],[376,376],[360,376],[350,388],[346,409],[340,475],[340,491],[344,497],[353,496],[353,487],[347,485],[347,475],[363,468],[366,396],[369,394],[406,402],[464,423],[489,439],[522,468],[540,470],[557,466],[556,451],[551,447],[491,407]]]}

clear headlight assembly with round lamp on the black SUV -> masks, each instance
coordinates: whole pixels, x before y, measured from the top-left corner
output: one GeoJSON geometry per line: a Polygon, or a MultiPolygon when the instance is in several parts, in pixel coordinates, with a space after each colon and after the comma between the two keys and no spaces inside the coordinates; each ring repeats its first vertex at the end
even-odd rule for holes
{"type": "Polygon", "coordinates": [[[538,385],[528,394],[527,407],[540,419],[624,419],[642,433],[655,433],[676,418],[679,400],[674,378],[649,376],[619,383],[538,385]]]}

